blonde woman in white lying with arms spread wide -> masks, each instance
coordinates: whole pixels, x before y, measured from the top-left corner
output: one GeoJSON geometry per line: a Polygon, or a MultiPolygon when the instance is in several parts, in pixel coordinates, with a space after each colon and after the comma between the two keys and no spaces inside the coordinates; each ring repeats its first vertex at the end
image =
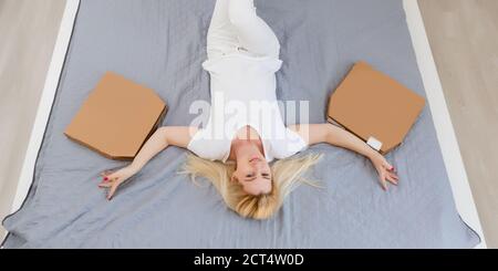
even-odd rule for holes
{"type": "Polygon", "coordinates": [[[168,146],[191,150],[195,155],[189,155],[186,171],[194,178],[209,179],[227,206],[247,218],[270,218],[291,189],[307,181],[303,173],[320,156],[291,157],[319,143],[364,155],[376,168],[384,189],[387,181],[397,185],[393,166],[349,132],[331,124],[286,127],[276,96],[274,73],[282,64],[280,44],[257,15],[253,0],[217,0],[207,34],[207,54],[203,67],[211,79],[211,111],[205,128],[158,128],[132,164],[103,174],[98,186],[108,189],[107,199],[168,146]],[[222,104],[216,98],[219,96],[222,104]],[[278,161],[270,165],[274,159],[278,161]]]}

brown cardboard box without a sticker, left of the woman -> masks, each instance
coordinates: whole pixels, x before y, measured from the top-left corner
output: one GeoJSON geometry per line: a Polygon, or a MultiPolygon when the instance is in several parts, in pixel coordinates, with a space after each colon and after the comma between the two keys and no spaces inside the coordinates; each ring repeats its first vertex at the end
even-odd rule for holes
{"type": "Polygon", "coordinates": [[[111,159],[133,159],[167,112],[151,88],[107,72],[64,134],[111,159]]]}

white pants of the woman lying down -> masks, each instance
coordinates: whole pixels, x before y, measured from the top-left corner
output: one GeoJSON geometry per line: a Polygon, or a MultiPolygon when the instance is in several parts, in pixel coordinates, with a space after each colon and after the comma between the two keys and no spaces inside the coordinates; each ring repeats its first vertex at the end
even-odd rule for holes
{"type": "Polygon", "coordinates": [[[217,0],[207,34],[208,59],[239,49],[258,56],[280,54],[279,40],[257,15],[253,0],[217,0]]]}

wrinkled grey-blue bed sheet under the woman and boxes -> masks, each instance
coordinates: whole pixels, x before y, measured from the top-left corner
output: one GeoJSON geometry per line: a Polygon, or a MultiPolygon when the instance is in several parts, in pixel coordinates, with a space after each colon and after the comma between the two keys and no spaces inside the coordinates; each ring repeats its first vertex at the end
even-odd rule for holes
{"type": "MultiPolygon", "coordinates": [[[[317,145],[324,159],[270,220],[229,211],[205,181],[177,171],[187,150],[154,158],[112,201],[98,174],[108,160],[63,135],[106,71],[153,87],[170,110],[164,125],[188,125],[195,100],[209,101],[203,71],[215,0],[84,0],[22,208],[3,221],[6,248],[471,248],[479,237],[459,217],[429,108],[387,155],[401,176],[383,191],[371,163],[317,145]]],[[[325,122],[328,97],[364,60],[425,96],[401,0],[259,0],[282,45],[278,96],[310,101],[325,122]]]]}

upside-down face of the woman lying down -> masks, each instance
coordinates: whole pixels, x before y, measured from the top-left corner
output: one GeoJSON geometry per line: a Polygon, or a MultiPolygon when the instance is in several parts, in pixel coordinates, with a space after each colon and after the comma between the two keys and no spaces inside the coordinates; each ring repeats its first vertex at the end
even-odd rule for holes
{"type": "Polygon", "coordinates": [[[247,194],[255,196],[271,192],[271,178],[270,166],[262,156],[237,160],[237,170],[231,176],[232,181],[238,181],[247,194]]]}

